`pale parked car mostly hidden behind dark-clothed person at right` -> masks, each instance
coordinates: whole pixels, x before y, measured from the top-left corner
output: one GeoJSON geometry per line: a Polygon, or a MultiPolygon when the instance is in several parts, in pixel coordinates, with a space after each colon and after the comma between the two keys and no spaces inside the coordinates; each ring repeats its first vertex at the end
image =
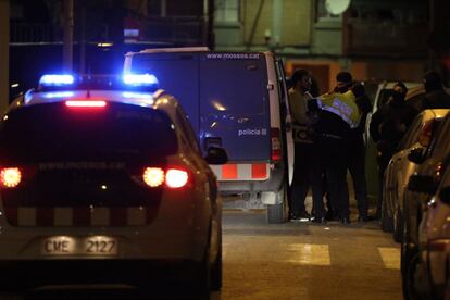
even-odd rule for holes
{"type": "MultiPolygon", "coordinates": [[[[365,173],[366,178],[371,178],[371,180],[367,180],[367,197],[371,201],[376,202],[379,195],[379,179],[378,179],[378,165],[376,161],[377,152],[376,145],[371,138],[370,134],[370,124],[372,120],[372,115],[380,108],[383,107],[389,99],[389,97],[392,95],[392,88],[395,82],[382,82],[378,83],[377,90],[375,92],[375,97],[372,104],[372,112],[367,115],[367,122],[366,122],[366,128],[364,134],[364,140],[365,140],[365,173]]],[[[415,103],[417,101],[421,101],[423,97],[425,96],[425,89],[423,87],[422,83],[405,83],[408,87],[408,93],[405,99],[412,100],[411,103],[415,103]]],[[[413,105],[414,107],[414,105],[413,105]]]]}

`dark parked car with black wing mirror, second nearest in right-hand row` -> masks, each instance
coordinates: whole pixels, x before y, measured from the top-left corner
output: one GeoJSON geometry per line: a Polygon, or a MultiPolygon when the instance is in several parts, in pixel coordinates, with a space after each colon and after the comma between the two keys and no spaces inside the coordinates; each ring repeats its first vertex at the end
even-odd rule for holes
{"type": "Polygon", "coordinates": [[[401,242],[401,272],[403,290],[410,293],[412,274],[418,259],[418,224],[423,218],[426,203],[436,193],[441,177],[448,166],[446,158],[450,153],[450,114],[438,126],[429,147],[412,150],[409,159],[418,164],[410,177],[403,197],[403,235],[401,242]]]}

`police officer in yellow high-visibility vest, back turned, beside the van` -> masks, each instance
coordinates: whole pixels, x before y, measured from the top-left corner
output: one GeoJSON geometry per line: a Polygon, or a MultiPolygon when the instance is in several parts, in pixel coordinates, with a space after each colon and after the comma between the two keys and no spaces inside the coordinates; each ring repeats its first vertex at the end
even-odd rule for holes
{"type": "MultiPolygon", "coordinates": [[[[360,95],[357,95],[358,97],[360,95]]],[[[325,174],[326,189],[330,193],[332,207],[336,209],[342,224],[350,223],[349,192],[347,186],[348,141],[351,128],[360,118],[360,111],[352,91],[323,95],[311,101],[311,109],[318,110],[314,125],[313,202],[315,223],[325,222],[321,182],[325,174]]]]}

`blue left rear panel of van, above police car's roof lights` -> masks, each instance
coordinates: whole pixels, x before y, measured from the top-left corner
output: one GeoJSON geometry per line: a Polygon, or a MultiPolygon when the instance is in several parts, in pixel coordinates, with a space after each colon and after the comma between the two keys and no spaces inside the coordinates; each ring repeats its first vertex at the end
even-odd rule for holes
{"type": "Polygon", "coordinates": [[[196,133],[199,133],[199,62],[189,53],[135,54],[129,68],[136,74],[154,74],[160,87],[183,105],[196,133]]]}

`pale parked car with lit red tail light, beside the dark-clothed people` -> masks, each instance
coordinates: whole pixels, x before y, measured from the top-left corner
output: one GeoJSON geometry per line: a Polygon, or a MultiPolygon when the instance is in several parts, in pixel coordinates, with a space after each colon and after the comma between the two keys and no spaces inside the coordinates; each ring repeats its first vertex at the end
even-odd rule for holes
{"type": "Polygon", "coordinates": [[[398,242],[402,236],[403,191],[416,168],[408,154],[413,149],[428,147],[437,125],[448,112],[449,110],[426,110],[420,113],[400,141],[399,152],[392,157],[386,168],[382,224],[384,229],[392,229],[393,239],[398,242]]]}

